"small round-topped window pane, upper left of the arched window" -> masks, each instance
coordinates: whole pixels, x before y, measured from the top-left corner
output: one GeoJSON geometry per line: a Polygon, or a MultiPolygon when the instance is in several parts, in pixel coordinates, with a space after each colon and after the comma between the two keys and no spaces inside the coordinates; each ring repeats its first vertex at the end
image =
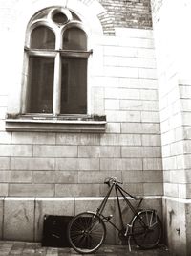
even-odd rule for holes
{"type": "Polygon", "coordinates": [[[54,49],[55,35],[52,30],[45,26],[39,26],[32,30],[31,48],[33,49],[54,49]]]}

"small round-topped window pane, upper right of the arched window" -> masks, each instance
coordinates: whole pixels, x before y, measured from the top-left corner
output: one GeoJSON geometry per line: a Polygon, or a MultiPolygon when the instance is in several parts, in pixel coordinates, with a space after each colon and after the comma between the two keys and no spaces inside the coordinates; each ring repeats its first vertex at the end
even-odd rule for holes
{"type": "Polygon", "coordinates": [[[66,30],[63,35],[63,49],[87,50],[86,34],[78,28],[66,30]]]}

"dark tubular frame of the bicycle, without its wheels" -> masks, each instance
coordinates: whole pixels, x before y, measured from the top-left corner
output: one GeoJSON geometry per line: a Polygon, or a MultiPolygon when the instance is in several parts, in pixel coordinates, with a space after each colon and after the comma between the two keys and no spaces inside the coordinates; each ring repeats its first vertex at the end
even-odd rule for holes
{"type": "MultiPolygon", "coordinates": [[[[128,207],[131,209],[131,211],[133,212],[133,217],[131,219],[131,221],[129,223],[131,223],[133,221],[133,219],[138,216],[138,209],[140,207],[140,204],[143,200],[143,198],[136,198],[134,197],[133,195],[131,195],[130,193],[128,193],[127,191],[125,191],[121,186],[119,186],[117,183],[113,183],[112,186],[110,187],[110,189],[108,190],[105,198],[102,200],[101,204],[99,205],[99,207],[97,208],[96,210],[96,215],[98,215],[101,219],[105,220],[105,221],[108,221],[110,224],[112,224],[118,231],[121,231],[123,228],[124,228],[124,221],[123,221],[123,218],[122,218],[122,210],[121,210],[121,206],[120,206],[120,202],[119,202],[119,195],[122,196],[122,198],[126,201],[126,204],[128,205],[128,207]],[[117,207],[118,207],[118,212],[119,212],[119,219],[120,219],[120,226],[121,228],[117,227],[117,225],[110,221],[110,219],[108,217],[105,217],[102,212],[106,206],[106,203],[108,201],[108,198],[110,197],[113,189],[115,187],[115,192],[116,192],[116,198],[117,198],[117,207]],[[134,200],[138,200],[139,199],[139,202],[138,202],[138,206],[135,208],[132,203],[130,202],[130,200],[127,198],[127,196],[129,196],[130,198],[133,198],[134,200]]],[[[141,219],[140,219],[141,221],[141,219]]],[[[141,221],[143,225],[144,222],[141,221]]],[[[126,234],[127,235],[127,234],[126,234]]],[[[130,235],[130,234],[128,234],[130,235]]]]}

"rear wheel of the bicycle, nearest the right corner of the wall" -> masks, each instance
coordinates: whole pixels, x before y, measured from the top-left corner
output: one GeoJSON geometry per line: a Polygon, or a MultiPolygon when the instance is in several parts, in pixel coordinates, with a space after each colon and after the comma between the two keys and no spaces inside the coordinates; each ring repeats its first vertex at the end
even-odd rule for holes
{"type": "Polygon", "coordinates": [[[132,221],[132,234],[135,243],[141,249],[152,249],[159,244],[162,225],[155,210],[143,210],[138,213],[132,221]]]}

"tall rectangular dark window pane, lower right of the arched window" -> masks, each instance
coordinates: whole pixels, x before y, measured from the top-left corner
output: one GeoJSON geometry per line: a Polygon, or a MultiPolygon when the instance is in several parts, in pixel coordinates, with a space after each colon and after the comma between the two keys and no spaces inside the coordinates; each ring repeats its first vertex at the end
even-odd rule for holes
{"type": "Polygon", "coordinates": [[[62,114],[86,114],[86,88],[87,59],[62,58],[62,114]]]}

